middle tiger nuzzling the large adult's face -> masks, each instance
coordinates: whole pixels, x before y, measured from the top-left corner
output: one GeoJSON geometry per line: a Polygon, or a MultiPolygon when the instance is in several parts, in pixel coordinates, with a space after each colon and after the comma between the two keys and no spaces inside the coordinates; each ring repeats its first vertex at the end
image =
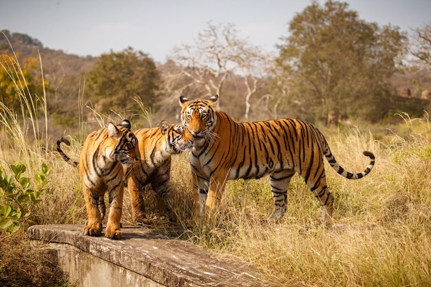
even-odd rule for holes
{"type": "Polygon", "coordinates": [[[169,219],[175,222],[176,208],[169,179],[171,155],[191,151],[193,136],[184,126],[170,125],[166,120],[162,120],[159,127],[138,129],[135,136],[138,138],[140,160],[133,162],[125,171],[132,201],[132,219],[134,222],[146,222],[141,191],[150,184],[151,189],[165,200],[169,219]]]}

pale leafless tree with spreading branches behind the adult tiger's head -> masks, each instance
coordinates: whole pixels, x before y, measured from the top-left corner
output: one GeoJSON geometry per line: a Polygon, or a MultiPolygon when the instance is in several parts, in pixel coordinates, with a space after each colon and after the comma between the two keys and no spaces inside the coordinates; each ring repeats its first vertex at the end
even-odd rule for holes
{"type": "Polygon", "coordinates": [[[227,80],[239,79],[238,85],[245,91],[244,118],[248,119],[250,98],[264,83],[265,60],[268,59],[259,47],[240,39],[233,24],[209,22],[208,27],[198,33],[195,45],[175,47],[165,64],[169,64],[162,71],[165,101],[177,101],[178,94],[183,93],[191,98],[213,94],[223,98],[227,80]]]}

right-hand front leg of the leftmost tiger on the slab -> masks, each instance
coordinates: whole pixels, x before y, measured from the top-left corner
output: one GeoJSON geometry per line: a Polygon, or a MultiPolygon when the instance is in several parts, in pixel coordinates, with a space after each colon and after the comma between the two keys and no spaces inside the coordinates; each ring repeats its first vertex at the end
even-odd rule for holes
{"type": "Polygon", "coordinates": [[[121,179],[113,184],[114,189],[109,191],[109,217],[106,224],[105,237],[109,239],[121,239],[121,213],[123,211],[124,185],[121,179]]]}

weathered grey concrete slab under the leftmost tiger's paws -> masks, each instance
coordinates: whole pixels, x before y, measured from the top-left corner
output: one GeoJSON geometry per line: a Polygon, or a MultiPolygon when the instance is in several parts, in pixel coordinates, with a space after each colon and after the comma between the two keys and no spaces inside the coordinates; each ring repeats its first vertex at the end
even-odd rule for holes
{"type": "Polygon", "coordinates": [[[39,225],[30,239],[48,242],[76,286],[266,286],[252,266],[148,228],[122,228],[122,240],[83,235],[83,226],[39,225]]]}

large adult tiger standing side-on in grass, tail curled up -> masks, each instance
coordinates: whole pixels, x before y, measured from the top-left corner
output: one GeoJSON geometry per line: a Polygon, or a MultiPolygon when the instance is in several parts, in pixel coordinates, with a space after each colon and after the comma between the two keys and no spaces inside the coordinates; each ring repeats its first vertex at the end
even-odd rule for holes
{"type": "Polygon", "coordinates": [[[349,173],[339,166],[323,134],[312,125],[294,118],[255,123],[236,123],[223,111],[215,111],[218,96],[209,100],[188,100],[180,96],[182,123],[195,138],[190,153],[195,195],[195,215],[205,206],[214,211],[226,180],[262,178],[270,175],[275,200],[273,219],[286,212],[288,184],[295,174],[322,204],[322,220],[330,224],[334,197],[326,187],[323,158],[345,178],[358,179],[370,173],[375,156],[364,151],[370,164],[361,173],[349,173]]]}

